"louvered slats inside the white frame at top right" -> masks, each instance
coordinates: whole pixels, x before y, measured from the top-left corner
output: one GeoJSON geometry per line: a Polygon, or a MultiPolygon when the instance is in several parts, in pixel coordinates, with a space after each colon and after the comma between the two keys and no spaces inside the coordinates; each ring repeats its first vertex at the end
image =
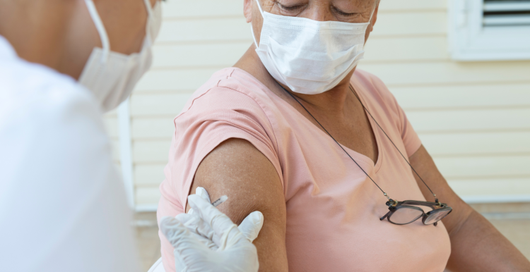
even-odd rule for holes
{"type": "Polygon", "coordinates": [[[483,27],[530,26],[530,0],[484,0],[483,27]]]}

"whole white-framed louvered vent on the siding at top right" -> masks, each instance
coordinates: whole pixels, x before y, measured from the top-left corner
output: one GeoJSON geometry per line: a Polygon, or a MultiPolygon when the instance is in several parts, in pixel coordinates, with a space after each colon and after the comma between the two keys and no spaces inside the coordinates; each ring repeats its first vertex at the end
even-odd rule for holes
{"type": "Polygon", "coordinates": [[[449,0],[455,61],[530,60],[530,0],[449,0]]]}

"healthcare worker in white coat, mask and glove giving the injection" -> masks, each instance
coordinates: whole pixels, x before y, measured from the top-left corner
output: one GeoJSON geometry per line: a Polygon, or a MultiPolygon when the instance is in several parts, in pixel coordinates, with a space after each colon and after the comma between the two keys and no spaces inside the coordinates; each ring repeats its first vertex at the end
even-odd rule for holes
{"type": "MultiPolygon", "coordinates": [[[[102,113],[151,66],[160,22],[157,0],[0,1],[0,271],[138,271],[102,113]]],[[[190,203],[162,225],[182,266],[257,271],[248,234],[190,203]]]]}

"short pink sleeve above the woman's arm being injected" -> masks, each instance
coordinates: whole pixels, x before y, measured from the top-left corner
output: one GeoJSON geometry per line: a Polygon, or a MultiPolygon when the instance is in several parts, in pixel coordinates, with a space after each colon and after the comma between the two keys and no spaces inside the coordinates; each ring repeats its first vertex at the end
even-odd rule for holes
{"type": "Polygon", "coordinates": [[[189,109],[175,118],[170,184],[177,189],[177,201],[183,209],[199,164],[230,138],[253,144],[282,176],[271,124],[259,104],[249,94],[214,87],[192,99],[189,109]]]}

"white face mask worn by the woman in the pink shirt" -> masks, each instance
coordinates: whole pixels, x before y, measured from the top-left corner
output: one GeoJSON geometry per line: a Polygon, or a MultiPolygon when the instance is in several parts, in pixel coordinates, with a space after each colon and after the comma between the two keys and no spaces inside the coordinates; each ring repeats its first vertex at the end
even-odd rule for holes
{"type": "Polygon", "coordinates": [[[273,78],[293,92],[326,92],[363,58],[365,32],[370,23],[279,16],[264,12],[259,1],[257,4],[263,27],[257,44],[251,25],[256,52],[273,78]]]}

